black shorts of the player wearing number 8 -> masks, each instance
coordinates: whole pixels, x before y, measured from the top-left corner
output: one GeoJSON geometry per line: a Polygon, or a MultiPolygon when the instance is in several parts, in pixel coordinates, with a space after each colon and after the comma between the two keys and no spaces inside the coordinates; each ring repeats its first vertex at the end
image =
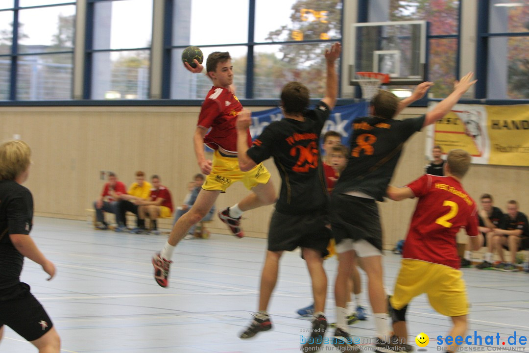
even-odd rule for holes
{"type": "Polygon", "coordinates": [[[331,226],[336,245],[343,239],[365,239],[382,250],[382,228],[375,200],[345,194],[331,195],[331,226]]]}

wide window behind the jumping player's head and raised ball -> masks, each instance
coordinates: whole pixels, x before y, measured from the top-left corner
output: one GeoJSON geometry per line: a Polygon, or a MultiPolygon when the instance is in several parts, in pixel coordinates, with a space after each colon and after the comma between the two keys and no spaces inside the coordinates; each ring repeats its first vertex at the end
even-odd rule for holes
{"type": "Polygon", "coordinates": [[[276,99],[291,80],[306,84],[312,97],[323,96],[322,53],[341,40],[341,0],[255,0],[252,10],[249,5],[247,0],[229,6],[215,0],[174,2],[171,98],[203,99],[211,88],[211,80],[181,64],[181,52],[189,45],[201,47],[204,60],[213,51],[230,52],[240,98],[276,99]]]}

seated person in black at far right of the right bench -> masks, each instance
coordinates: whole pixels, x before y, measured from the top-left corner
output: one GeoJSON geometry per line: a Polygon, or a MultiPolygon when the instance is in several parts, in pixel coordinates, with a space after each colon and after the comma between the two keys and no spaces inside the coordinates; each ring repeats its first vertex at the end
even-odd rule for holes
{"type": "Polygon", "coordinates": [[[527,216],[518,211],[518,203],[514,200],[507,202],[507,213],[504,214],[498,228],[492,230],[492,248],[496,249],[500,263],[494,268],[501,271],[513,272],[516,252],[529,248],[529,225],[527,216]],[[503,256],[503,248],[510,252],[510,262],[507,263],[503,256]]]}

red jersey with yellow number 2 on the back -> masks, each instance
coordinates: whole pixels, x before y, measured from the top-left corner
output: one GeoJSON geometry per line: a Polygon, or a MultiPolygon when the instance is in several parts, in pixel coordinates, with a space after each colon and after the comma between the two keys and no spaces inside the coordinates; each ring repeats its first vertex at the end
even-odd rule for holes
{"type": "Polygon", "coordinates": [[[478,235],[476,202],[452,177],[423,175],[407,187],[419,198],[402,256],[459,268],[456,234],[478,235]]]}

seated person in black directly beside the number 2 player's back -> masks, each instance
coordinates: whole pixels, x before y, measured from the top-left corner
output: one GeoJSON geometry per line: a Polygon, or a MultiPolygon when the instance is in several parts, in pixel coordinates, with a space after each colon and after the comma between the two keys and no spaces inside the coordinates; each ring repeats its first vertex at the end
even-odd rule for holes
{"type": "MultiPolygon", "coordinates": [[[[479,269],[492,268],[492,237],[494,236],[495,228],[498,228],[499,222],[503,219],[503,212],[492,204],[492,196],[483,194],[480,197],[481,209],[478,213],[478,230],[481,236],[484,237],[483,245],[487,247],[487,252],[483,258],[483,262],[476,266],[479,269]]],[[[464,257],[461,259],[461,267],[470,267],[472,265],[472,252],[470,251],[470,243],[465,246],[464,257]]]]}

